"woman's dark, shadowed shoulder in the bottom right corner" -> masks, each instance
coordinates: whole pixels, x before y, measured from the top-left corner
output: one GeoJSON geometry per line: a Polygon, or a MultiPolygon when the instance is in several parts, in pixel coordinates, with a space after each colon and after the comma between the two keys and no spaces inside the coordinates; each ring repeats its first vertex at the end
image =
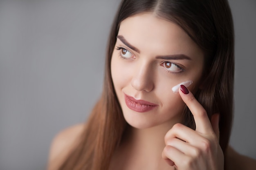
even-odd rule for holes
{"type": "Polygon", "coordinates": [[[227,170],[255,170],[256,160],[236,152],[230,146],[226,156],[227,170]]]}

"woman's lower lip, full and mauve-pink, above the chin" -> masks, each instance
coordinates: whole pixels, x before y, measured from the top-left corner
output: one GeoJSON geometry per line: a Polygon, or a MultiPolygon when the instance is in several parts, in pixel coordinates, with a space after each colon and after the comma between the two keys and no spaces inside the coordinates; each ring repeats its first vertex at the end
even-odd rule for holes
{"type": "Polygon", "coordinates": [[[148,112],[157,106],[157,105],[139,104],[136,101],[132,101],[131,99],[129,99],[129,97],[127,97],[126,95],[124,98],[125,98],[126,106],[128,108],[140,113],[148,112]]]}

